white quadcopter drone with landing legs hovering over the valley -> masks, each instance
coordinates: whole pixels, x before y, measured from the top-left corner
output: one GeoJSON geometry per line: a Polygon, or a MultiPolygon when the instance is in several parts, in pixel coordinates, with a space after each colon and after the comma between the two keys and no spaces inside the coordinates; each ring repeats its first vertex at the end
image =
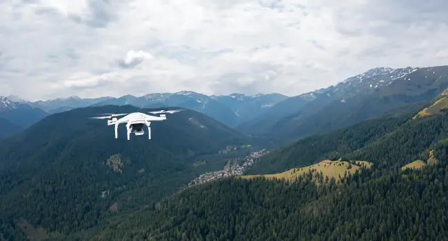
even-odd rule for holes
{"type": "Polygon", "coordinates": [[[150,114],[161,114],[160,116],[151,116],[141,112],[134,112],[131,114],[105,114],[107,116],[90,117],[94,119],[108,119],[108,125],[115,125],[115,138],[119,138],[118,129],[121,123],[126,123],[126,128],[128,129],[128,140],[130,140],[131,133],[136,136],[141,136],[145,134],[143,130],[143,125],[147,126],[147,134],[151,139],[151,121],[163,121],[166,120],[165,114],[174,114],[176,112],[181,112],[185,109],[174,109],[174,110],[159,110],[157,112],[149,112],[150,114]],[[116,118],[116,116],[124,116],[122,118],[116,118]]]}

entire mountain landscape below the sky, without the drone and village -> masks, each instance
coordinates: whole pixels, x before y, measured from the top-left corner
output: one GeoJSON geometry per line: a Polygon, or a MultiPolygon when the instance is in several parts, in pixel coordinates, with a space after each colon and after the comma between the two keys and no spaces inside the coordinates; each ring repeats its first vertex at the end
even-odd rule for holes
{"type": "Polygon", "coordinates": [[[378,67],[292,97],[2,97],[0,240],[446,240],[447,74],[378,67]],[[152,140],[88,118],[177,107],[152,140]],[[180,189],[267,145],[241,178],[180,189]]]}

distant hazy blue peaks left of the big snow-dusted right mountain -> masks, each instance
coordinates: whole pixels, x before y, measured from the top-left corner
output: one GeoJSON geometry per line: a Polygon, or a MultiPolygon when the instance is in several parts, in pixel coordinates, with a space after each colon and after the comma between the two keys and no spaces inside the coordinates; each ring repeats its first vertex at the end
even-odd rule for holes
{"type": "MultiPolygon", "coordinates": [[[[49,101],[23,101],[17,96],[1,97],[0,112],[12,109],[23,109],[32,107],[40,109],[41,115],[30,118],[32,123],[39,121],[43,116],[59,112],[65,112],[79,107],[98,107],[104,105],[134,105],[140,108],[156,107],[183,107],[193,109],[197,112],[207,114],[217,121],[236,127],[238,123],[256,118],[259,114],[288,98],[282,94],[256,94],[247,96],[245,94],[230,94],[229,96],[207,96],[196,92],[176,92],[147,94],[145,96],[125,95],[119,98],[79,98],[70,96],[69,98],[57,98],[49,101]]],[[[4,114],[6,116],[6,114],[4,114]]],[[[20,116],[16,115],[17,118],[20,116]]],[[[18,121],[17,118],[10,118],[10,121],[18,121]]]]}

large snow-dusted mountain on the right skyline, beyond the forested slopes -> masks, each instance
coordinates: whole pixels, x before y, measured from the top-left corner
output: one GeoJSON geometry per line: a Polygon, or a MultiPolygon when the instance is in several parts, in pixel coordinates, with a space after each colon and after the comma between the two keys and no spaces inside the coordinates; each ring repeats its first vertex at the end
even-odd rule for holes
{"type": "Polygon", "coordinates": [[[312,101],[287,116],[271,116],[269,125],[252,122],[237,129],[289,140],[329,132],[430,101],[448,87],[447,74],[448,66],[375,68],[312,93],[312,101]]]}

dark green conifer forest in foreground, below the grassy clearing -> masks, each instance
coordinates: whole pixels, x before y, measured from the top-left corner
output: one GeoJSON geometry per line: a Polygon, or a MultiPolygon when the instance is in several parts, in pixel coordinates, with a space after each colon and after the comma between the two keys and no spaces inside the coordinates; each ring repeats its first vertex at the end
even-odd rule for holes
{"type": "Polygon", "coordinates": [[[229,179],[114,218],[92,240],[447,240],[447,183],[446,163],[366,171],[340,185],[229,179]]]}

